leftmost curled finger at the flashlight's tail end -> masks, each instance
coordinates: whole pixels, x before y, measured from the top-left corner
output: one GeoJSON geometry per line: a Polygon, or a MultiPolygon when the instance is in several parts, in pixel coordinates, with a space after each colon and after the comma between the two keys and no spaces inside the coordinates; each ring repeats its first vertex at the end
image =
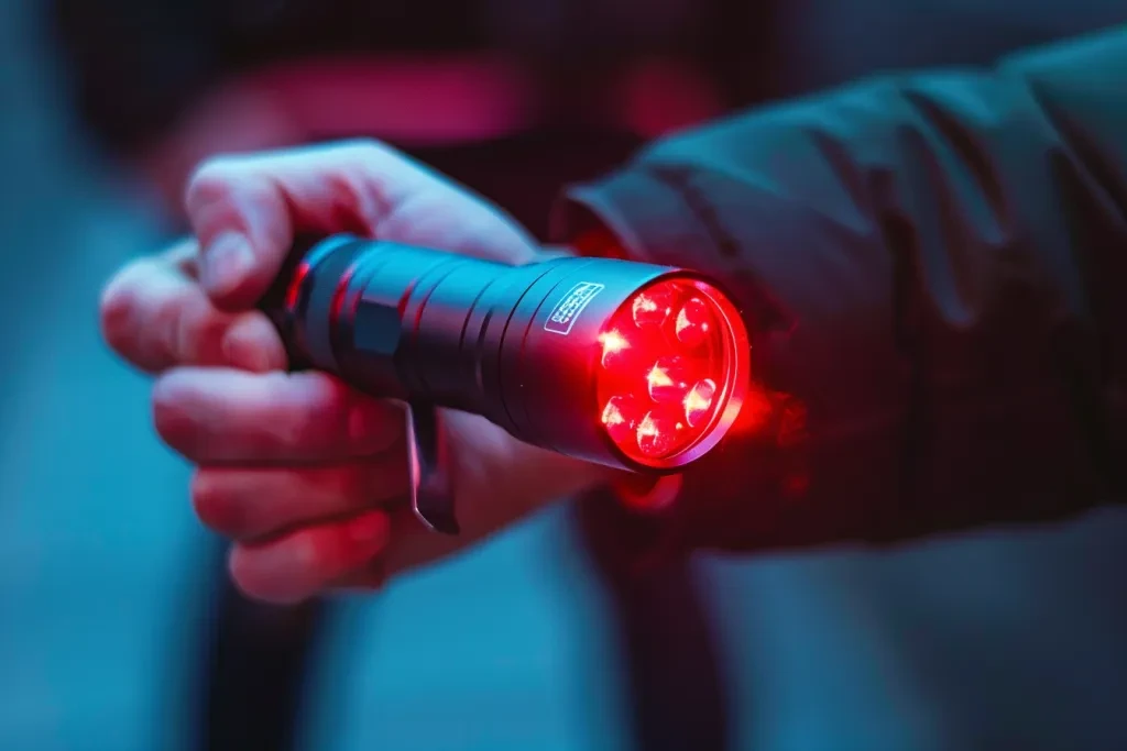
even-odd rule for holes
{"type": "Polygon", "coordinates": [[[180,243],[134,261],[110,280],[100,301],[106,342],[150,373],[175,365],[284,368],[285,348],[269,320],[218,310],[189,275],[193,253],[194,243],[180,243]]]}

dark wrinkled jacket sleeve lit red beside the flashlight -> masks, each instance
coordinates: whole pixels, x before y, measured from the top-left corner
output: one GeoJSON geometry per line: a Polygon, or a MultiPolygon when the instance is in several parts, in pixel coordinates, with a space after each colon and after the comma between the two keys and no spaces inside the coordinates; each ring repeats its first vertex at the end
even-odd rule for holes
{"type": "Polygon", "coordinates": [[[748,549],[1121,500],[1125,81],[1120,29],[736,117],[573,190],[559,239],[726,279],[754,332],[743,429],[623,526],[748,549]]]}

